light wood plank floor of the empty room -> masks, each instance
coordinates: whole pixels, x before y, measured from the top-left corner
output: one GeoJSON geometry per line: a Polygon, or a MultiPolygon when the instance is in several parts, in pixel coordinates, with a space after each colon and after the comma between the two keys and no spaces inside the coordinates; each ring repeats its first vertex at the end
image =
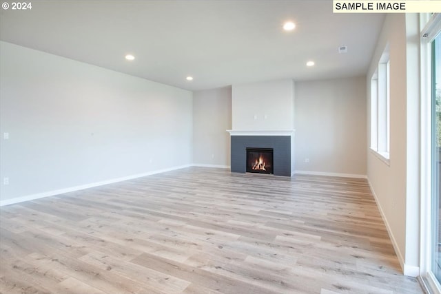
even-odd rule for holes
{"type": "Polygon", "coordinates": [[[366,180],[192,167],[0,209],[1,293],[422,293],[366,180]]]}

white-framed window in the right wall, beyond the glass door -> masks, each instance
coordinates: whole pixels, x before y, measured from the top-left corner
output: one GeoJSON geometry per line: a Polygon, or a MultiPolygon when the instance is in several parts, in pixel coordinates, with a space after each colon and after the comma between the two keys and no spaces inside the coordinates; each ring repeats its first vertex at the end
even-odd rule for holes
{"type": "Polygon", "coordinates": [[[384,50],[371,78],[371,149],[389,164],[389,46],[384,50]]]}

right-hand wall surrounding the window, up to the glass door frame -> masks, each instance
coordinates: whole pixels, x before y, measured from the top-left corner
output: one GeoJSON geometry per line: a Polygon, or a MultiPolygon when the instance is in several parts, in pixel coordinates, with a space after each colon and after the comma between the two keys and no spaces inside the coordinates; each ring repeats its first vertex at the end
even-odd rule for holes
{"type": "MultiPolygon", "coordinates": [[[[373,151],[367,153],[367,176],[406,275],[419,266],[419,85],[418,19],[416,14],[388,14],[367,74],[369,81],[389,43],[390,53],[390,165],[373,151]],[[409,34],[406,19],[413,23],[409,34]],[[409,43],[407,42],[409,38],[409,43]]],[[[368,99],[367,105],[370,105],[368,99]]],[[[368,118],[369,118],[368,108],[368,118]]],[[[370,121],[368,120],[368,126],[370,121]]]]}

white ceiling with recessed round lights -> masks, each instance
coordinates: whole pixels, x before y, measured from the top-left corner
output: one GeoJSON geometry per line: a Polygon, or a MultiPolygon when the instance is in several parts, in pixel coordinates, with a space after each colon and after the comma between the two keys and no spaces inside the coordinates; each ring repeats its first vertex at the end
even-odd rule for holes
{"type": "Polygon", "coordinates": [[[34,0],[0,11],[2,41],[187,90],[363,75],[384,20],[333,14],[331,0],[34,0]],[[282,30],[287,20],[295,30],[282,30]]]}

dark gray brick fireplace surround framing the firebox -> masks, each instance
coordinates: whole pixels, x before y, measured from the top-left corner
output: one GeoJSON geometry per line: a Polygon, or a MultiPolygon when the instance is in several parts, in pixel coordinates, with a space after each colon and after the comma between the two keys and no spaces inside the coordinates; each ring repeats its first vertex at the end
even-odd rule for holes
{"type": "Polygon", "coordinates": [[[273,148],[274,176],[291,176],[291,136],[232,136],[232,172],[245,173],[247,147],[273,148]]]}

